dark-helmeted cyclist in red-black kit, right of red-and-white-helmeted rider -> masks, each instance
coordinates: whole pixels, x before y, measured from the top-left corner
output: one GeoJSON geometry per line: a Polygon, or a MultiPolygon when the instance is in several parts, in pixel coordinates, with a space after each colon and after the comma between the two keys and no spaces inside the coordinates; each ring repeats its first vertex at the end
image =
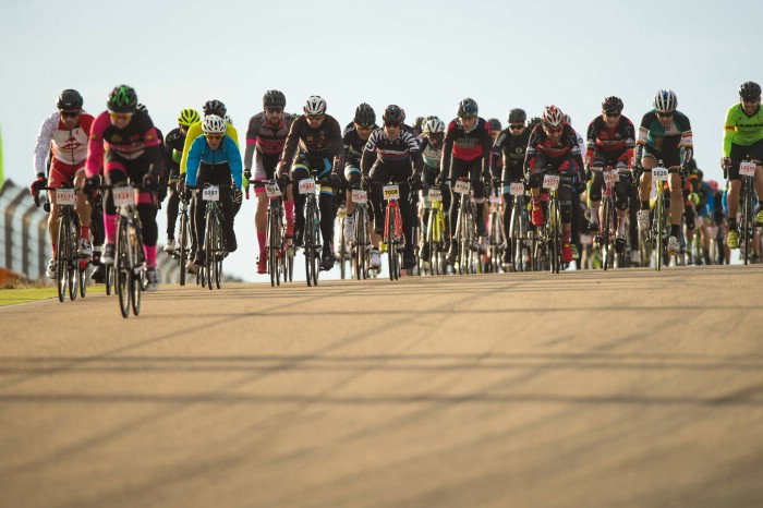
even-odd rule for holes
{"type": "MultiPolygon", "coordinates": [[[[604,184],[604,173],[601,169],[607,166],[617,171],[630,168],[633,157],[635,129],[633,122],[622,116],[622,108],[623,104],[619,97],[614,95],[606,97],[602,101],[602,114],[589,124],[585,148],[586,177],[591,180],[589,231],[598,231],[598,208],[602,203],[602,185],[604,184]],[[591,168],[598,168],[600,171],[592,173],[591,168]],[[593,179],[591,179],[592,174],[593,179]]],[[[629,188],[630,179],[621,178],[613,189],[615,191],[615,206],[617,207],[617,239],[615,241],[617,252],[622,252],[626,246],[629,188]]]]}

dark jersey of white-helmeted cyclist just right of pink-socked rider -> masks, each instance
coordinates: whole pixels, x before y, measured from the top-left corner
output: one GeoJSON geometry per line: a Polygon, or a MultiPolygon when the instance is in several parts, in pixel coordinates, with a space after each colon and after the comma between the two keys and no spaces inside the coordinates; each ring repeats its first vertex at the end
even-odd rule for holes
{"type": "Polygon", "coordinates": [[[339,122],[330,114],[326,114],[326,118],[317,129],[310,126],[304,114],[294,120],[287,136],[281,157],[284,170],[288,171],[291,168],[298,147],[307,159],[337,158],[338,164],[336,164],[335,168],[340,168],[344,164],[342,132],[339,122]]]}

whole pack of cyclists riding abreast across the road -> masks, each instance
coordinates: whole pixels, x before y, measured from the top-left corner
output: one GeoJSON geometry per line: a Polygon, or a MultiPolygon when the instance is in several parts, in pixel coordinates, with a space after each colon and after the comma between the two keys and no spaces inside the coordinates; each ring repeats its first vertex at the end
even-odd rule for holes
{"type": "MultiPolygon", "coordinates": [[[[685,254],[688,264],[729,262],[730,251],[740,245],[737,219],[742,189],[740,167],[747,168],[746,174],[752,177],[752,192],[744,195],[752,199],[756,210],[753,222],[763,225],[763,209],[759,206],[763,196],[763,111],[761,86],[753,82],[739,87],[739,101],[726,113],[720,157],[726,185],[705,181],[703,171],[697,167],[690,120],[678,110],[678,98],[670,89],[656,93],[653,108],[643,114],[638,129],[623,114],[620,98],[605,97],[584,138],[557,106],[545,107],[540,118],[530,120],[523,109],[512,108],[502,129],[499,120],[481,117],[472,98],[458,104],[456,117],[450,121],[436,116],[417,117],[412,125],[405,123],[405,112],[397,105],[387,106],[377,124],[374,109],[362,102],[342,130],[337,119],[327,114],[326,100],[320,96],[308,97],[302,114],[286,113],[286,105],[280,90],[265,92],[262,111],[249,121],[242,156],[238,133],[220,100],[204,104],[202,116],[194,108],[181,109],[178,125],[162,138],[147,109],[138,104],[134,88],[114,87],[108,96],[107,110],[95,117],[83,109],[80,93],[65,89],[57,99],[57,111],[40,126],[31,192],[36,196],[51,188],[78,190],[74,206],[80,225],[77,254],[96,265],[93,278],[100,281],[102,265],[114,262],[118,210],[108,184],[129,181],[136,186],[135,205],[142,225],[148,290],[156,290],[159,282],[156,214],[165,196],[168,197],[165,251],[172,253],[178,249],[175,222],[179,203],[185,199],[190,203],[193,234],[192,253],[184,269],[194,273],[204,265],[204,251],[199,249],[205,237],[205,206],[201,201],[204,184],[230,189],[220,195],[223,244],[230,253],[238,247],[233,225],[243,191],[249,197],[249,185],[255,183],[258,274],[267,270],[268,199],[263,185],[256,183],[270,180],[277,180],[283,190],[286,237],[293,239],[298,247],[305,228],[305,198],[299,193],[298,183],[310,178],[320,183],[324,270],[331,269],[336,262],[335,221],[340,204],[346,206],[343,238],[350,243],[355,240],[354,203],[335,196],[343,189],[368,191],[368,213],[374,225],[370,231],[373,245],[370,266],[379,269],[384,229],[380,189],[388,182],[400,186],[404,269],[428,258],[428,253],[420,249],[425,247],[421,239],[425,234],[422,226],[427,223],[428,209],[424,203],[429,189],[443,191],[448,237],[444,261],[449,264],[456,262],[459,253],[455,233],[460,201],[473,202],[476,233],[484,238],[486,198],[489,194],[502,196],[505,270],[513,269],[509,259],[509,223],[516,193],[510,192],[511,184],[525,186],[529,226],[540,228],[547,215],[547,196],[542,189],[546,174],[559,177],[564,264],[576,261],[579,267],[595,266],[583,259],[580,252],[591,247],[592,237],[585,233],[600,229],[604,174],[609,170],[619,173],[611,186],[615,246],[618,253],[623,253],[630,245],[630,261],[638,257],[634,255],[639,249],[637,230],[649,230],[653,220],[655,168],[667,170],[668,255],[685,254]],[[458,181],[469,182],[470,192],[457,192],[458,181]],[[90,228],[92,220],[97,221],[97,227],[90,228]]],[[[55,193],[49,192],[49,201],[53,256],[46,275],[55,278],[60,207],[55,193]]],[[[752,255],[760,258],[760,228],[754,228],[754,235],[752,255]]]]}

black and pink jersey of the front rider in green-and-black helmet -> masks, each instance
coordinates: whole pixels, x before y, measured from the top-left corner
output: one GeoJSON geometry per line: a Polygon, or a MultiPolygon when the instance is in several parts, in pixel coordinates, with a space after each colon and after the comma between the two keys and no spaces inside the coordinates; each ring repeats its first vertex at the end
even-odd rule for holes
{"type": "Polygon", "coordinates": [[[109,112],[104,111],[95,119],[90,140],[87,143],[87,177],[97,177],[104,162],[104,153],[134,160],[145,155],[154,173],[161,172],[161,142],[148,114],[135,111],[124,129],[111,124],[109,112]]]}

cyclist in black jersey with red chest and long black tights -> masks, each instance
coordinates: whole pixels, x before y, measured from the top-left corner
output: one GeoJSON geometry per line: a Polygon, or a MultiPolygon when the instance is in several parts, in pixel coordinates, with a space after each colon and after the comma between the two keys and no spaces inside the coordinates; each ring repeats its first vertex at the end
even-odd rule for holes
{"type": "MultiPolygon", "coordinates": [[[[465,98],[459,102],[456,118],[448,124],[445,131],[445,146],[443,147],[443,161],[440,164],[443,174],[448,174],[450,180],[467,177],[476,181],[481,177],[484,185],[473,184],[474,203],[476,203],[476,225],[480,237],[485,235],[486,189],[491,178],[491,150],[493,148],[493,137],[491,126],[487,121],[477,117],[480,108],[472,98],[465,98]]],[[[456,234],[456,220],[461,203],[461,194],[453,191],[451,182],[451,205],[450,205],[450,235],[456,234]]],[[[448,263],[453,263],[458,256],[458,241],[452,239],[450,251],[448,252],[448,263]]]]}

